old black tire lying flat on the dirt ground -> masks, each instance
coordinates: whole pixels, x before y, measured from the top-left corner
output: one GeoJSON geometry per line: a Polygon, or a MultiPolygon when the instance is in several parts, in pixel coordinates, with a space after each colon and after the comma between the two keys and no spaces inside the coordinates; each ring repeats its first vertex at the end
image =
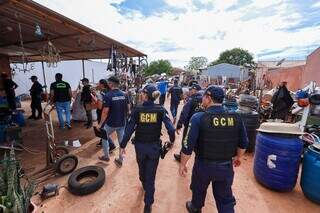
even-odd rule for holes
{"type": "Polygon", "coordinates": [[[87,195],[100,189],[106,179],[104,169],[86,166],[74,171],[68,180],[69,191],[75,195],[87,195]]]}

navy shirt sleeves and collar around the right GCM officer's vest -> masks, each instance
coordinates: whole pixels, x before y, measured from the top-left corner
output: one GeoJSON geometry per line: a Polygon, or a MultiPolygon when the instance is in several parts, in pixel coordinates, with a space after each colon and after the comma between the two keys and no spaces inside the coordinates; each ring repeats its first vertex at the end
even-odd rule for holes
{"type": "MultiPolygon", "coordinates": [[[[208,112],[213,112],[213,113],[224,113],[226,112],[225,109],[222,106],[211,106],[207,109],[208,112]]],[[[191,155],[192,151],[194,150],[195,146],[198,143],[198,137],[199,137],[199,132],[200,132],[200,125],[201,125],[201,117],[204,115],[204,112],[198,112],[194,114],[191,117],[190,123],[189,123],[189,130],[187,133],[186,138],[183,141],[183,146],[182,146],[182,153],[185,155],[191,155]]],[[[247,132],[244,127],[243,122],[240,124],[240,130],[239,130],[239,143],[238,147],[240,149],[246,149],[249,141],[247,137],[247,132]]],[[[226,135],[226,137],[228,137],[226,135]]]]}

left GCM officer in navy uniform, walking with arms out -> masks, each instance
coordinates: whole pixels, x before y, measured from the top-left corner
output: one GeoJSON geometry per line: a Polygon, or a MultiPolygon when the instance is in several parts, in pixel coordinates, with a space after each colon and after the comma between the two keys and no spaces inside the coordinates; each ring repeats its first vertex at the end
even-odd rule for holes
{"type": "Polygon", "coordinates": [[[161,105],[154,104],[160,92],[153,85],[147,85],[142,90],[143,104],[137,106],[131,113],[125,129],[120,152],[125,154],[125,148],[132,133],[135,131],[134,146],[139,166],[139,179],[145,190],[144,212],[151,212],[154,202],[155,177],[161,153],[161,128],[165,124],[170,137],[170,145],[175,140],[175,129],[168,113],[161,105]]]}

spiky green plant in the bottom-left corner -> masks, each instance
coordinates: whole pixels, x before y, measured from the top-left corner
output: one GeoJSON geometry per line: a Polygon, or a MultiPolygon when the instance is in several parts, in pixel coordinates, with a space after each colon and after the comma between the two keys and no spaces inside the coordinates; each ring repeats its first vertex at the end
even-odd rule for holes
{"type": "Polygon", "coordinates": [[[15,159],[14,149],[10,155],[5,154],[1,162],[0,173],[0,209],[4,213],[25,213],[27,212],[30,199],[35,190],[34,182],[22,185],[20,163],[15,159]]]}

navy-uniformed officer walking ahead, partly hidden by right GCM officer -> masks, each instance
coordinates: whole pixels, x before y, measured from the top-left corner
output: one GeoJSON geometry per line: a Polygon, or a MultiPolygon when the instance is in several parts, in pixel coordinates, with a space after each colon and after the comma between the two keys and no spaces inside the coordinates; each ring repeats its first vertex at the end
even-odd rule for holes
{"type": "MultiPolygon", "coordinates": [[[[199,92],[201,90],[201,87],[198,84],[193,84],[190,88],[190,97],[188,98],[188,101],[183,106],[180,118],[177,123],[177,129],[176,132],[179,135],[180,129],[183,128],[182,133],[182,142],[185,139],[188,131],[189,121],[193,114],[196,112],[201,111],[201,102],[202,102],[202,94],[199,92]]],[[[180,154],[174,154],[174,158],[176,161],[180,162],[180,154]]]]}

